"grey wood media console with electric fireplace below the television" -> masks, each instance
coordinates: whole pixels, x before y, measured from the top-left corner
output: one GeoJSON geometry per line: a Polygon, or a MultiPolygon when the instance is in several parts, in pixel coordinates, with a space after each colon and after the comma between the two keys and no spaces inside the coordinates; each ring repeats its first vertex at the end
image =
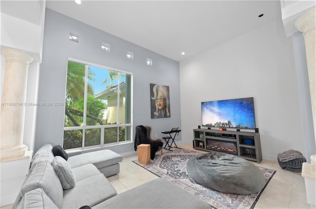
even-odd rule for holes
{"type": "Polygon", "coordinates": [[[260,134],[246,131],[220,131],[194,129],[193,145],[204,151],[220,151],[234,154],[247,160],[262,161],[260,134]]]}

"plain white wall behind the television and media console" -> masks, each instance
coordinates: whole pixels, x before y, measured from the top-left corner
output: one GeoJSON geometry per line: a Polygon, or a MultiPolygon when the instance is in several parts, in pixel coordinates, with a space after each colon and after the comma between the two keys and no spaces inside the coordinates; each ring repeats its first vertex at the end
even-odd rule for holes
{"type": "Polygon", "coordinates": [[[263,158],[305,153],[293,45],[281,21],[180,62],[180,92],[185,143],[201,125],[202,101],[254,97],[263,158]]]}

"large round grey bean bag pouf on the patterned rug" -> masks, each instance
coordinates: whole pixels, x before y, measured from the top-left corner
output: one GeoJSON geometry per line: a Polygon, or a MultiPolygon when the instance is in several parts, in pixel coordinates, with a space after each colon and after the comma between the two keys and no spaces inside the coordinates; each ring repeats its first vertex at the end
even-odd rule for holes
{"type": "Polygon", "coordinates": [[[251,194],[266,184],[263,173],[254,164],[216,151],[191,157],[187,172],[197,183],[222,193],[251,194]]]}

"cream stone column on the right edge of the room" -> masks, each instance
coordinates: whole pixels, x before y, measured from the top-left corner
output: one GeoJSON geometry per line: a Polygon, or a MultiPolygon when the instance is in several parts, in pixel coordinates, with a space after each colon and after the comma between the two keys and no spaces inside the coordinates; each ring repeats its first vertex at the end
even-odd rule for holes
{"type": "MultiPolygon", "coordinates": [[[[308,68],[308,78],[310,85],[312,113],[314,121],[314,133],[316,137],[316,54],[315,54],[315,8],[306,12],[295,21],[295,28],[303,32],[306,60],[308,68]]],[[[316,139],[315,139],[316,140],[316,139]]]]}

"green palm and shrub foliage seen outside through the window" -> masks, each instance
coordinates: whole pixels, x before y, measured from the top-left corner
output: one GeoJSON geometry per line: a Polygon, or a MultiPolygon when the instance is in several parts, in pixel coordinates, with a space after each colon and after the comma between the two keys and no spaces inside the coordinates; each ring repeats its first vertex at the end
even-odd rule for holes
{"type": "MultiPolygon", "coordinates": [[[[67,69],[67,92],[64,127],[82,126],[84,110],[84,79],[86,65],[68,61],[67,69]]],[[[125,76],[124,74],[119,74],[125,76]]],[[[109,76],[113,86],[114,79],[118,78],[118,72],[109,70],[109,76]]],[[[88,69],[87,84],[87,104],[86,104],[86,125],[108,124],[103,119],[106,104],[102,100],[94,98],[94,90],[89,81],[94,81],[95,73],[88,69]]],[[[104,83],[106,83],[105,80],[104,83]]],[[[82,147],[82,131],[66,130],[64,131],[64,149],[73,149],[82,147]]],[[[85,129],[84,147],[100,145],[101,128],[85,129]]],[[[125,140],[124,127],[104,128],[104,144],[116,143],[125,140]],[[119,131],[118,131],[119,130],[119,131]]]]}

